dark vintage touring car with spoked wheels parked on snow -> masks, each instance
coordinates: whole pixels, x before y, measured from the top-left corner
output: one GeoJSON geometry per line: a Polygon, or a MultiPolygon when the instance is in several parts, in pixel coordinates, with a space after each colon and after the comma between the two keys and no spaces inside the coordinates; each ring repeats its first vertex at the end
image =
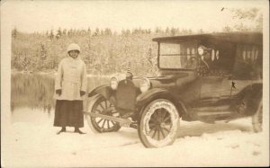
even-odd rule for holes
{"type": "Polygon", "coordinates": [[[99,133],[137,128],[146,147],[171,145],[179,118],[214,123],[252,117],[262,130],[263,35],[195,34],[157,42],[154,77],[112,77],[88,93],[85,117],[99,133]]]}

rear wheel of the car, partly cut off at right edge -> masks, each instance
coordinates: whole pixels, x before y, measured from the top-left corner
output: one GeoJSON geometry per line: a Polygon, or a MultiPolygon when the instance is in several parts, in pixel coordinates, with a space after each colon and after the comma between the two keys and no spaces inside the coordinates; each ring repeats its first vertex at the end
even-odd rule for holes
{"type": "Polygon", "coordinates": [[[259,103],[257,112],[252,116],[252,126],[254,132],[261,132],[263,130],[263,103],[259,103]]]}

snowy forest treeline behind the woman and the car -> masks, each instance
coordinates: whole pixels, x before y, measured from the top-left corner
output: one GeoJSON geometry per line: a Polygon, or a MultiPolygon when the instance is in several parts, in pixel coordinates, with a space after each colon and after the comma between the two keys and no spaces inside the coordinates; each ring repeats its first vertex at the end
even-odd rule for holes
{"type": "MultiPolygon", "coordinates": [[[[198,32],[203,32],[199,30],[198,32]]],[[[136,75],[157,72],[157,44],[154,37],[192,34],[192,30],[157,28],[122,30],[109,28],[92,31],[61,29],[43,33],[12,31],[12,68],[22,71],[56,70],[58,62],[67,57],[67,46],[76,42],[89,74],[113,74],[127,71],[136,75]]]]}

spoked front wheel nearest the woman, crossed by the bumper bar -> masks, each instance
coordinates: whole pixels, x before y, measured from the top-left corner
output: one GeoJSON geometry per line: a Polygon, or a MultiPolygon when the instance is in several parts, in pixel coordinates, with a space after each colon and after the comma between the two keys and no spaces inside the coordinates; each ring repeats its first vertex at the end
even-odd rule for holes
{"type": "MultiPolygon", "coordinates": [[[[115,111],[112,103],[106,100],[100,94],[96,94],[91,98],[91,101],[89,102],[87,106],[87,112],[101,113],[101,114],[109,115],[109,116],[119,115],[118,112],[115,111]],[[113,110],[104,111],[104,110],[108,110],[109,107],[111,107],[113,110]]],[[[95,133],[116,132],[121,128],[121,126],[118,123],[112,120],[91,117],[89,115],[85,115],[85,116],[86,116],[86,120],[88,122],[89,127],[95,133]]]]}

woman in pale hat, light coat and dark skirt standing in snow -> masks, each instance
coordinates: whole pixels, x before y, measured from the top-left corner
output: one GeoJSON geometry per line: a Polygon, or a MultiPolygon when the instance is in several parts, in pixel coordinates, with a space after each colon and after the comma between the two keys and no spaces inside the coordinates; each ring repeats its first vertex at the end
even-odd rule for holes
{"type": "Polygon", "coordinates": [[[85,134],[79,128],[84,127],[83,100],[85,98],[87,78],[84,61],[78,57],[80,47],[72,43],[67,48],[68,57],[58,65],[55,80],[54,126],[62,127],[58,134],[66,132],[66,127],[74,127],[76,133],[85,134]]]}

